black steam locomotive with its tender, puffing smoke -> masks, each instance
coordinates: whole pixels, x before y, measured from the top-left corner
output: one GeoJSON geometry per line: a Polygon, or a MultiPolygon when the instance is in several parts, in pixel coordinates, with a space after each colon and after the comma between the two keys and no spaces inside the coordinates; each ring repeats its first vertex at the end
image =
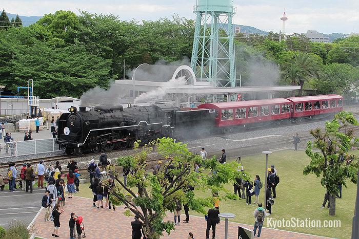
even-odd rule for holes
{"type": "Polygon", "coordinates": [[[101,106],[90,111],[86,107],[77,111],[71,106],[69,112],[59,118],[56,140],[69,155],[125,149],[136,140],[145,144],[162,137],[209,134],[206,130],[213,128],[215,122],[215,113],[209,110],[181,111],[162,103],[129,108],[101,106]]]}

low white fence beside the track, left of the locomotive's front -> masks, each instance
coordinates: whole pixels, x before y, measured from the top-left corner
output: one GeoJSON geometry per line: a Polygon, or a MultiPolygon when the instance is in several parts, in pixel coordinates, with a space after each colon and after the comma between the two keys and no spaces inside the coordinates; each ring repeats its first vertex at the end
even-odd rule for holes
{"type": "Polygon", "coordinates": [[[54,151],[62,151],[56,139],[38,139],[28,141],[13,141],[10,143],[0,144],[0,158],[17,157],[24,155],[35,155],[41,153],[51,153],[54,151]]]}

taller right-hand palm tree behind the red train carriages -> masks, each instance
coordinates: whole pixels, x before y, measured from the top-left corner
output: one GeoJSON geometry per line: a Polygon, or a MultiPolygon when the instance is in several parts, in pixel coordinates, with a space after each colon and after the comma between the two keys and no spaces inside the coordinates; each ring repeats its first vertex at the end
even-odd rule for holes
{"type": "Polygon", "coordinates": [[[308,80],[309,77],[319,77],[320,66],[313,59],[312,55],[305,52],[296,52],[294,54],[295,66],[301,69],[302,76],[298,79],[298,83],[301,86],[299,90],[299,96],[302,96],[304,82],[308,80]]]}

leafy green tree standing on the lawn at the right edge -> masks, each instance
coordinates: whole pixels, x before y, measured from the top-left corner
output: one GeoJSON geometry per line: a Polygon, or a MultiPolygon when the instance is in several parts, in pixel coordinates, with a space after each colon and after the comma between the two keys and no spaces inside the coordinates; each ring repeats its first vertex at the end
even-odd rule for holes
{"type": "Polygon", "coordinates": [[[341,112],[321,128],[312,129],[313,142],[307,143],[306,155],[311,161],[303,170],[304,175],[314,174],[321,177],[321,184],[326,188],[329,197],[329,215],[335,215],[335,196],[338,184],[347,186],[347,182],[356,182],[359,164],[358,157],[351,153],[352,147],[358,147],[359,138],[353,134],[351,125],[357,125],[352,113],[341,112]],[[313,150],[313,149],[319,150],[313,150]]]}

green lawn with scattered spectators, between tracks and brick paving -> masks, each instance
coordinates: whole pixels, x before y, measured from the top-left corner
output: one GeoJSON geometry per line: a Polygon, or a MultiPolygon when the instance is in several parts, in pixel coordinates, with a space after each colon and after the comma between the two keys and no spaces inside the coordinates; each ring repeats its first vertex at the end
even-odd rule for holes
{"type": "MultiPolygon", "coordinates": [[[[234,160],[234,159],[232,159],[234,160]]],[[[242,157],[242,162],[252,178],[259,175],[264,182],[265,173],[265,155],[253,155],[242,157]]],[[[354,212],[356,185],[349,183],[348,188],[343,187],[343,198],[336,200],[336,216],[329,216],[327,208],[320,208],[323,203],[325,189],[321,186],[320,180],[314,175],[305,177],[303,168],[310,162],[304,151],[275,151],[269,155],[268,165],[274,164],[281,178],[277,186],[277,198],[272,206],[273,220],[340,220],[340,228],[276,228],[287,231],[296,231],[321,236],[336,238],[350,238],[352,216],[354,212]]],[[[92,192],[88,188],[89,184],[81,184],[80,192],[76,195],[92,198],[92,192]]],[[[227,185],[228,189],[233,190],[232,185],[227,185]]],[[[205,195],[201,191],[196,191],[198,196],[205,195]]],[[[206,195],[210,195],[208,192],[206,195]]],[[[252,197],[254,202],[255,197],[252,197]]],[[[263,189],[260,194],[260,201],[264,201],[263,189]]],[[[220,203],[221,212],[232,212],[236,217],[233,222],[252,225],[254,223],[253,211],[256,205],[246,205],[245,200],[222,201],[220,203]]],[[[196,212],[190,212],[193,215],[200,215],[196,212]]],[[[203,216],[203,215],[200,215],[203,216]]],[[[264,227],[267,227],[265,222],[264,227]]]]}

